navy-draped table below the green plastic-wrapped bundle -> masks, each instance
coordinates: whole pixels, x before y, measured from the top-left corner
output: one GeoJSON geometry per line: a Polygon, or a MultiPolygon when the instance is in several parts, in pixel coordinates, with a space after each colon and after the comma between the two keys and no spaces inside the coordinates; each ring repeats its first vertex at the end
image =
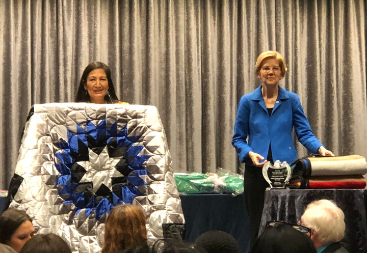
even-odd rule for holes
{"type": "Polygon", "coordinates": [[[239,242],[240,253],[248,251],[249,220],[243,194],[192,194],[180,195],[180,199],[186,242],[195,242],[206,231],[221,230],[239,242]]]}

